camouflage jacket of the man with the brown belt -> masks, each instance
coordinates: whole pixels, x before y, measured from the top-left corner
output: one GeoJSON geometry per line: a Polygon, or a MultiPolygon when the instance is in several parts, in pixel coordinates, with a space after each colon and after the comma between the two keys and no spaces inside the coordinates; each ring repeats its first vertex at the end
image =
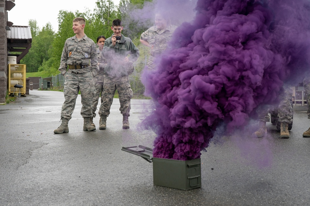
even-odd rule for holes
{"type": "Polygon", "coordinates": [[[67,72],[68,65],[91,65],[82,69],[69,69],[72,72],[74,70],[78,73],[86,73],[91,71],[93,76],[96,76],[99,72],[98,57],[95,42],[83,36],[82,40],[78,40],[76,36],[68,38],[64,43],[64,49],[61,54],[59,71],[61,74],[67,72]]]}

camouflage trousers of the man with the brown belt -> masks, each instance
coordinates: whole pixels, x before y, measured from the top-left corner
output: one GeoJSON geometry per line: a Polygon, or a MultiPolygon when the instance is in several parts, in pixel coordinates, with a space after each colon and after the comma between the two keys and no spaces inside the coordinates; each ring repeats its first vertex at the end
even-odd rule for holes
{"type": "Polygon", "coordinates": [[[61,118],[71,119],[75,108],[78,92],[81,91],[81,115],[82,117],[92,117],[92,102],[95,95],[94,78],[91,72],[74,73],[67,72],[64,81],[64,104],[61,108],[61,118]]]}

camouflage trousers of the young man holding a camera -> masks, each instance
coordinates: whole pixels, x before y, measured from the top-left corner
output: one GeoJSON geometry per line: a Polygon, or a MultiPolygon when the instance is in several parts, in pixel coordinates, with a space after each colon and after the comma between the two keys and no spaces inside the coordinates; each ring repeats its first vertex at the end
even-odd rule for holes
{"type": "Polygon", "coordinates": [[[133,96],[133,92],[130,87],[128,76],[125,77],[109,77],[104,76],[104,91],[101,96],[101,105],[99,109],[99,115],[109,115],[110,108],[113,103],[113,97],[115,91],[118,92],[119,103],[121,107],[119,111],[121,111],[122,115],[129,116],[130,107],[130,99],[133,96]]]}

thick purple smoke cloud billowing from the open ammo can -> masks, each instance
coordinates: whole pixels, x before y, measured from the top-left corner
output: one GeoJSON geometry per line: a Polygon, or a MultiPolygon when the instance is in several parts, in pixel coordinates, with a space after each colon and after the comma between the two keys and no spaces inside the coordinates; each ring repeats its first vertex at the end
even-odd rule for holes
{"type": "Polygon", "coordinates": [[[275,104],[284,82],[299,83],[309,66],[308,0],[198,0],[157,70],[145,71],[156,110],[153,156],[200,158],[219,125],[226,133],[275,104]],[[299,82],[298,82],[299,81],[299,82]]]}

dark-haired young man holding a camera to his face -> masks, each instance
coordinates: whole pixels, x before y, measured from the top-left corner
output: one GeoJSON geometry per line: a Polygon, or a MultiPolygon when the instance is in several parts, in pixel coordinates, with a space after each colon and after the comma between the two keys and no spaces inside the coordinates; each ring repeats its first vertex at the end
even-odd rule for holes
{"type": "Polygon", "coordinates": [[[113,97],[117,90],[121,107],[119,110],[123,115],[123,129],[129,128],[128,117],[130,99],[133,92],[129,83],[129,74],[132,74],[133,62],[139,58],[139,49],[130,38],[121,34],[123,27],[120,19],[112,22],[113,35],[105,40],[102,58],[108,63],[104,67],[104,92],[101,96],[102,104],[99,109],[100,126],[99,129],[106,129],[107,117],[113,103],[113,97]]]}

